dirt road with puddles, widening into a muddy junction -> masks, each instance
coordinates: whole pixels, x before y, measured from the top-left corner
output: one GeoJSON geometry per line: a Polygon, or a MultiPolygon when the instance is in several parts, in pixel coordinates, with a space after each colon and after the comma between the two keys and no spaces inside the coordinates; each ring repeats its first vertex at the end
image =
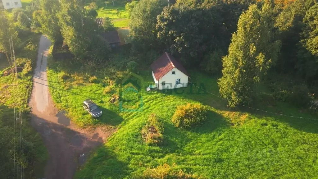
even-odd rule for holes
{"type": "Polygon", "coordinates": [[[114,129],[103,126],[79,129],[69,118],[56,110],[49,94],[46,76],[47,54],[51,42],[41,36],[33,90],[29,105],[32,126],[42,135],[50,158],[45,166],[46,179],[71,179],[93,147],[102,144],[114,129]]]}

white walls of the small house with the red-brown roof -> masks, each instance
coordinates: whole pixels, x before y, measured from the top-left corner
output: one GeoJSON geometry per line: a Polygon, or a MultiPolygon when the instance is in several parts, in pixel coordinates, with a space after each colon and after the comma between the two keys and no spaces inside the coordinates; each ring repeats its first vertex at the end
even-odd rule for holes
{"type": "MultiPolygon", "coordinates": [[[[155,79],[155,77],[154,77],[154,79],[155,79]]],[[[178,80],[178,82],[179,82],[179,80],[178,80]]],[[[162,76],[162,78],[160,78],[157,81],[157,83],[158,83],[158,85],[157,85],[158,89],[173,89],[173,88],[187,87],[188,86],[188,76],[185,75],[184,73],[182,73],[177,68],[172,68],[167,74],[162,76]],[[173,74],[172,73],[173,71],[175,71],[176,74],[173,74]],[[180,79],[179,84],[176,83],[177,79],[180,79]],[[162,82],[164,82],[165,84],[162,85],[162,82]]]]}

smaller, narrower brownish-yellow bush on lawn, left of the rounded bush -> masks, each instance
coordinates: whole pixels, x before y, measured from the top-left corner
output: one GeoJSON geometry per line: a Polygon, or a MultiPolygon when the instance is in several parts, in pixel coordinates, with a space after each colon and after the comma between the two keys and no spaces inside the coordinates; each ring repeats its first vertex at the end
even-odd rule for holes
{"type": "Polygon", "coordinates": [[[142,138],[147,145],[158,145],[163,140],[163,125],[156,114],[151,114],[147,124],[142,128],[142,138]]]}

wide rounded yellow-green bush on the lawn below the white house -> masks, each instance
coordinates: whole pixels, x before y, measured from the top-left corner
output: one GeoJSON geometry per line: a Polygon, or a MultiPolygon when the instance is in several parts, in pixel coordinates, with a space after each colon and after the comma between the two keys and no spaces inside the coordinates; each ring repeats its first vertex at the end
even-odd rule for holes
{"type": "Polygon", "coordinates": [[[203,122],[207,118],[207,106],[202,104],[186,104],[178,106],[172,116],[172,122],[176,127],[188,128],[203,122]]]}

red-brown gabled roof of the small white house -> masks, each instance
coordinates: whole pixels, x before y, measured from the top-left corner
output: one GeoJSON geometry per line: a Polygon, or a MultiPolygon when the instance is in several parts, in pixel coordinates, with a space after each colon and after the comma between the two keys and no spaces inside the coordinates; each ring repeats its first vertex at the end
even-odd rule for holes
{"type": "Polygon", "coordinates": [[[156,61],[154,61],[150,65],[152,72],[155,75],[156,80],[159,80],[167,74],[172,68],[176,67],[178,70],[180,70],[182,73],[188,76],[188,72],[185,70],[185,68],[176,61],[176,59],[169,53],[164,53],[159,57],[156,61]]]}

